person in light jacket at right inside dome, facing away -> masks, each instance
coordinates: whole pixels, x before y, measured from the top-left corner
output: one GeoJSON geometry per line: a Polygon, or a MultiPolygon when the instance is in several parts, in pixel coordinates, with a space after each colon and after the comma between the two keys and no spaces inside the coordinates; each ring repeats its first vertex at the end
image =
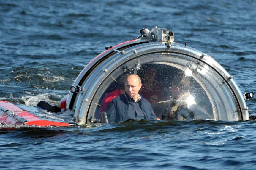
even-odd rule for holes
{"type": "Polygon", "coordinates": [[[190,81],[187,77],[173,78],[171,86],[173,99],[152,103],[153,110],[155,113],[163,113],[162,119],[167,120],[210,119],[207,111],[197,105],[189,89],[190,81]]]}

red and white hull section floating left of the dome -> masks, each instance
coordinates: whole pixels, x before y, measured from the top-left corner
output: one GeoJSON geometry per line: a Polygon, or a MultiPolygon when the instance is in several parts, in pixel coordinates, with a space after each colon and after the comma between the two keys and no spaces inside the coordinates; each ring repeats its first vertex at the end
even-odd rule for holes
{"type": "MultiPolygon", "coordinates": [[[[33,106],[32,106],[33,107],[33,106]]],[[[36,126],[69,126],[65,122],[51,114],[45,113],[39,108],[31,108],[26,111],[19,107],[19,104],[7,101],[0,101],[0,123],[2,124],[25,124],[36,126]],[[31,113],[30,113],[31,112],[31,113]]]]}

